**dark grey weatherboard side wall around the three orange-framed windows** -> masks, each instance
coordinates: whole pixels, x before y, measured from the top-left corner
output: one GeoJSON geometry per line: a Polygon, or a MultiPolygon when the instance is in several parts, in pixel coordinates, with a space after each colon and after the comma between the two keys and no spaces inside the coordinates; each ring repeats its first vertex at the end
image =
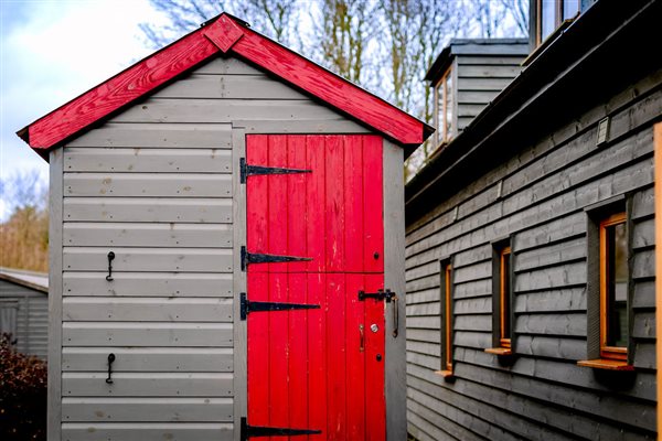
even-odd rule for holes
{"type": "MultiPolygon", "coordinates": [[[[652,121],[662,71],[504,158],[407,226],[408,429],[419,440],[655,439],[652,121]],[[596,146],[610,116],[609,142],[596,146]],[[630,201],[631,377],[587,353],[587,213],[630,201]],[[511,238],[512,365],[492,347],[492,241],[511,238]],[[451,258],[455,381],[440,361],[440,260],[451,258]]],[[[525,128],[522,128],[525,130],[525,128]]],[[[658,172],[659,175],[660,172],[658,172]]]]}

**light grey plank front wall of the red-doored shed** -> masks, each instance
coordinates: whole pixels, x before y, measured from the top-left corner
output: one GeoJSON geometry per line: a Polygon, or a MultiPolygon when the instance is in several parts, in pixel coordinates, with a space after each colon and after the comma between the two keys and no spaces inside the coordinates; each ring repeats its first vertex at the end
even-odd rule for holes
{"type": "Polygon", "coordinates": [[[252,132],[367,130],[216,58],[51,153],[50,439],[238,439],[232,173],[252,132]]]}

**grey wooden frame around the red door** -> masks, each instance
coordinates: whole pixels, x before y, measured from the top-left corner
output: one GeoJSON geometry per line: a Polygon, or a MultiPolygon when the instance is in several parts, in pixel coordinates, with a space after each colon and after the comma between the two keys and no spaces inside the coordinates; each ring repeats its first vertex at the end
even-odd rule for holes
{"type": "MultiPolygon", "coordinates": [[[[310,132],[281,135],[349,135],[346,132],[310,132]]],[[[239,182],[239,159],[246,158],[246,135],[279,135],[269,127],[237,127],[232,130],[233,154],[233,291],[234,291],[234,439],[241,441],[241,419],[248,415],[247,385],[247,321],[239,320],[239,293],[246,292],[247,272],[242,271],[241,249],[246,245],[246,185],[239,182]],[[248,129],[248,130],[247,130],[248,129]],[[256,130],[257,129],[257,130],[256,130]]],[[[357,135],[373,135],[362,132],[357,135]]],[[[383,213],[384,213],[384,288],[398,295],[397,303],[385,303],[385,366],[384,397],[386,402],[386,440],[407,438],[407,386],[406,386],[406,295],[405,295],[405,186],[403,175],[404,150],[385,140],[383,142],[383,213]],[[398,308],[398,336],[393,337],[393,308],[398,308]]]]}

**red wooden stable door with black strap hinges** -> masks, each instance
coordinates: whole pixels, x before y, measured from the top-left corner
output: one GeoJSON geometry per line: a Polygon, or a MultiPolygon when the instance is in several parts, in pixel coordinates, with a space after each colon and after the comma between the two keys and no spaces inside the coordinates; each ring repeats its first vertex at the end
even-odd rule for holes
{"type": "Polygon", "coordinates": [[[246,162],[310,171],[246,180],[246,250],[310,259],[248,263],[248,300],[319,305],[247,315],[247,422],[384,440],[381,138],[247,136],[246,162]]]}

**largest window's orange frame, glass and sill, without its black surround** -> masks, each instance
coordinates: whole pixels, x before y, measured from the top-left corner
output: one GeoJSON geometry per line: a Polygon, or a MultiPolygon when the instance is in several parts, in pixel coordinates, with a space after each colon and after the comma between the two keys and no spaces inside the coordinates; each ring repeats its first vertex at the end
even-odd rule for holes
{"type": "Polygon", "coordinates": [[[626,222],[626,213],[617,213],[599,223],[600,358],[579,361],[579,366],[633,370],[628,364],[626,222]]]}

